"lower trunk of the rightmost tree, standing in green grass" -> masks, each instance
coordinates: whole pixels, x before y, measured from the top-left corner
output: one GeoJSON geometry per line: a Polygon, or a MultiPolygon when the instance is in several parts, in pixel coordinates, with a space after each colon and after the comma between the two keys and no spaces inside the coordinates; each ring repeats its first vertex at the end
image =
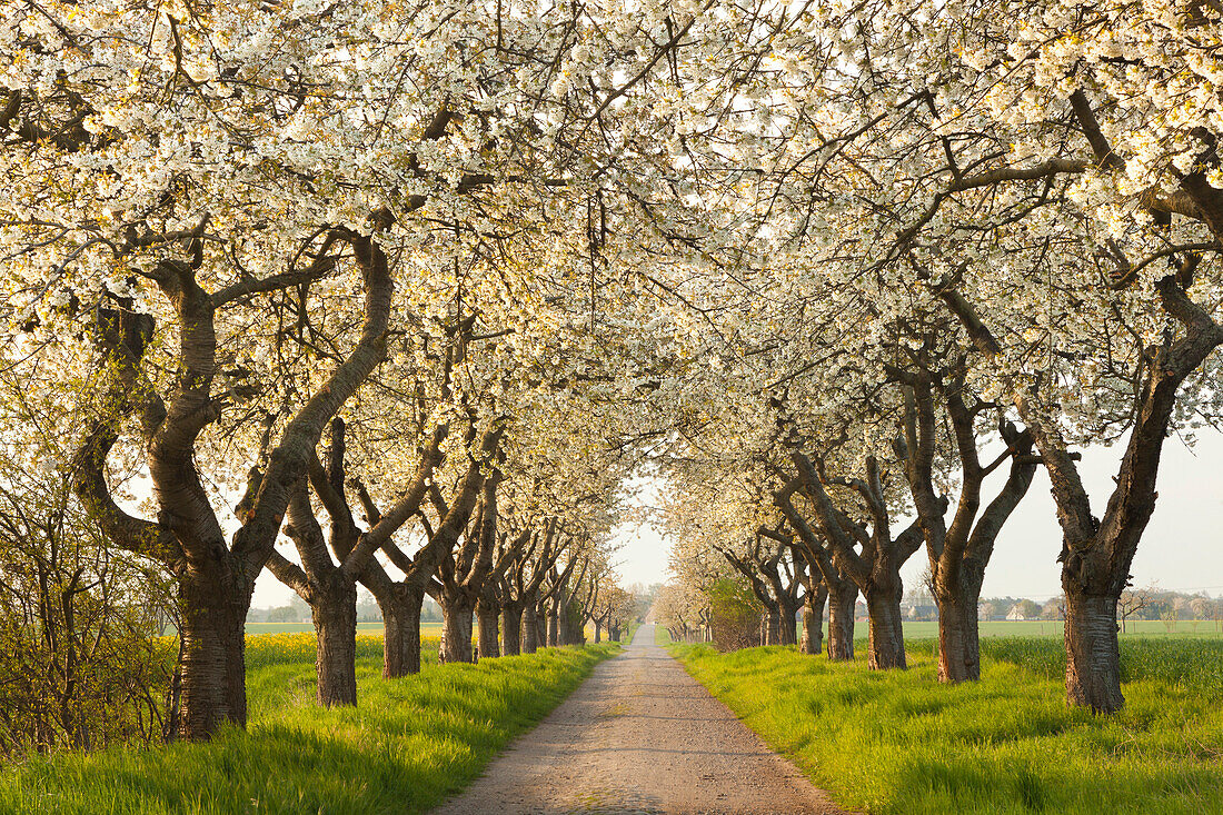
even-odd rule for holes
{"type": "Polygon", "coordinates": [[[1115,713],[1121,696],[1117,597],[1088,596],[1066,585],[1066,695],[1093,713],[1115,713]]]}

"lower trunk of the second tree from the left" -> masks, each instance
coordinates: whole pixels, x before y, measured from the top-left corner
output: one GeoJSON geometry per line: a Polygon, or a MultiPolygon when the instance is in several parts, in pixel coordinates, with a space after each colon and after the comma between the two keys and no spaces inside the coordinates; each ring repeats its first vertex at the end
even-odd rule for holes
{"type": "Polygon", "coordinates": [[[328,585],[316,584],[311,605],[317,641],[314,669],[319,705],[357,704],[357,586],[334,575],[328,585]]]}

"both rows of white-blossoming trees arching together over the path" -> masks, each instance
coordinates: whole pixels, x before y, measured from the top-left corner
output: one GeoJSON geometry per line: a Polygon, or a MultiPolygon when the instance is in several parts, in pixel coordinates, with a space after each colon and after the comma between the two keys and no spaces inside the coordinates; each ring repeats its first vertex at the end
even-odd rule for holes
{"type": "Polygon", "coordinates": [[[1159,454],[1217,415],[1216,9],[0,12],[5,371],[43,434],[5,432],[170,575],[183,735],[246,718],[264,568],[320,663],[357,582],[389,671],[426,592],[466,658],[471,612],[492,650],[537,565],[598,562],[642,463],[686,568],[759,552],[838,629],[861,595],[872,667],[925,552],[947,682],[1044,467],[1068,696],[1121,705],[1159,454]],[[1092,442],[1125,448],[1099,514],[1092,442]]]}

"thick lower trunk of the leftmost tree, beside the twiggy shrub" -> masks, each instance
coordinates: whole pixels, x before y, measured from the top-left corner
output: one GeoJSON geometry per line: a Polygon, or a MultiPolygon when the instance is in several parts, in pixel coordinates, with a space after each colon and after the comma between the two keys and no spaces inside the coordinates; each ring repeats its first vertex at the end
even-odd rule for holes
{"type": "Polygon", "coordinates": [[[177,733],[207,739],[225,723],[246,727],[246,614],[253,586],[231,558],[191,567],[179,585],[182,658],[177,733]]]}

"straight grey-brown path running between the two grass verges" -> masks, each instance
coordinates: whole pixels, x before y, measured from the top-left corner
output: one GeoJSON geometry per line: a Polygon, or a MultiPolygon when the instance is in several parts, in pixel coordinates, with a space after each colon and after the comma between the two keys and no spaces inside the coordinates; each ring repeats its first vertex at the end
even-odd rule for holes
{"type": "Polygon", "coordinates": [[[435,813],[841,813],[643,625],[435,813]]]}

